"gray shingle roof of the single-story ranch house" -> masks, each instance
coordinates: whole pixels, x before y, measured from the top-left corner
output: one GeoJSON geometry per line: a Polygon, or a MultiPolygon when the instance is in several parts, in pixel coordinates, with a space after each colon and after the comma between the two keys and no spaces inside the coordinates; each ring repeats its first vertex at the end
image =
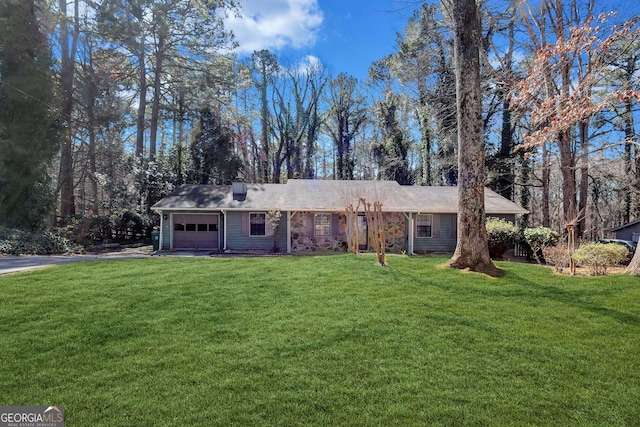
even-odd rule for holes
{"type": "MultiPolygon", "coordinates": [[[[246,184],[243,200],[230,185],[182,185],[153,205],[154,210],[260,209],[342,211],[357,203],[380,200],[386,212],[455,213],[456,187],[401,186],[395,181],[331,181],[290,179],[286,184],[246,184]]],[[[485,189],[488,215],[524,214],[527,210],[485,189]]]]}

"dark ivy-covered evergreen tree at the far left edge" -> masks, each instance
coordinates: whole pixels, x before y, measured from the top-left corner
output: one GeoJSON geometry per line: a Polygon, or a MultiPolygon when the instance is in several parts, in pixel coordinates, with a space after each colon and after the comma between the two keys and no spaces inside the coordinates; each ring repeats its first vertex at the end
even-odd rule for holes
{"type": "Polygon", "coordinates": [[[51,51],[36,0],[0,2],[0,224],[35,228],[55,202],[51,51]]]}

